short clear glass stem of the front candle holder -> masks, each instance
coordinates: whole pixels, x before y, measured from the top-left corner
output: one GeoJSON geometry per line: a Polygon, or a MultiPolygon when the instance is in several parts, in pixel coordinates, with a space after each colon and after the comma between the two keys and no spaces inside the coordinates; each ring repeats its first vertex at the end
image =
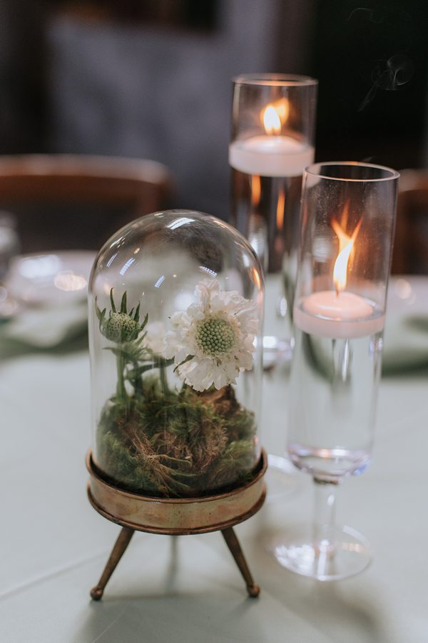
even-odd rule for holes
{"type": "Polygon", "coordinates": [[[313,544],[317,559],[332,559],[336,549],[335,509],[337,480],[322,480],[314,477],[315,512],[313,544]]]}

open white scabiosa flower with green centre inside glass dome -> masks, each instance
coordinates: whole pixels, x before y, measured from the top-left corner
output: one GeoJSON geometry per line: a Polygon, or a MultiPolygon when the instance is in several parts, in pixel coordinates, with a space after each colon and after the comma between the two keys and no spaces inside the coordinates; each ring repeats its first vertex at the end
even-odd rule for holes
{"type": "Polygon", "coordinates": [[[240,372],[253,367],[258,306],[237,291],[221,291],[216,279],[203,279],[196,301],[171,316],[165,357],[174,358],[185,384],[205,391],[235,384],[240,372]]]}

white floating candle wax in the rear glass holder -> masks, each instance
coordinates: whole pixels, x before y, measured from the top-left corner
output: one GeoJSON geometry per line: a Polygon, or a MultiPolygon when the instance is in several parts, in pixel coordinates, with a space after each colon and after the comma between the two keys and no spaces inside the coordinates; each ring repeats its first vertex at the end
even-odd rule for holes
{"type": "Polygon", "coordinates": [[[291,136],[260,135],[230,144],[229,164],[245,174],[300,176],[314,154],[313,147],[291,136]]]}

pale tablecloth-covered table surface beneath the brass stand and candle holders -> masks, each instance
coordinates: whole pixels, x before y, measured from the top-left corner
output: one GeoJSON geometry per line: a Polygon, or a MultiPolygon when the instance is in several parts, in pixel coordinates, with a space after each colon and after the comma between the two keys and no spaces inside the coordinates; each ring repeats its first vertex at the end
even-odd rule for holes
{"type": "MultiPolygon", "coordinates": [[[[428,281],[427,281],[428,286],[428,281]]],[[[91,442],[86,352],[43,352],[0,364],[2,643],[424,642],[427,611],[428,370],[382,379],[374,458],[340,490],[340,522],[374,557],[352,579],[320,583],[280,567],[273,532],[310,519],[301,473],[236,532],[262,592],[250,599],[218,533],[137,533],[91,602],[119,527],[86,498],[91,442]],[[288,485],[288,486],[287,486],[288,485]]],[[[262,439],[281,453],[287,373],[265,377],[262,439]]]]}

